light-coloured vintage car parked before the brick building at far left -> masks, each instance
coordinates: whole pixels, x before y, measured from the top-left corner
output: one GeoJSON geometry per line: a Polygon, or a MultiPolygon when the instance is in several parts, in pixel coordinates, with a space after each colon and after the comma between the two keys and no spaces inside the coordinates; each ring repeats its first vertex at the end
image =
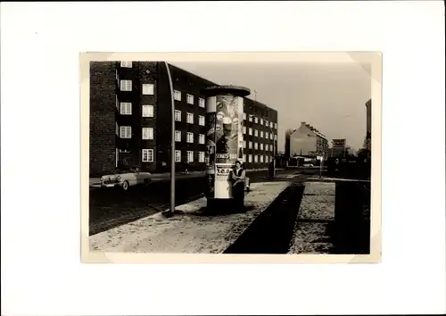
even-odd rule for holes
{"type": "Polygon", "coordinates": [[[127,191],[129,187],[147,185],[152,179],[149,172],[142,172],[137,167],[129,169],[115,169],[112,174],[101,177],[101,187],[122,187],[127,191]]]}

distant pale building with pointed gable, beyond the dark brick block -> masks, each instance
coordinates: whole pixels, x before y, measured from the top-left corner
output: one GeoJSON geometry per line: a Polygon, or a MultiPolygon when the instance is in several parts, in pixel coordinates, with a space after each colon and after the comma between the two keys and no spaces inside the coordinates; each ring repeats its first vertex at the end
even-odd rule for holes
{"type": "Polygon", "coordinates": [[[316,157],[326,154],[328,140],[326,137],[305,121],[299,129],[295,129],[289,138],[291,156],[316,157]]]}

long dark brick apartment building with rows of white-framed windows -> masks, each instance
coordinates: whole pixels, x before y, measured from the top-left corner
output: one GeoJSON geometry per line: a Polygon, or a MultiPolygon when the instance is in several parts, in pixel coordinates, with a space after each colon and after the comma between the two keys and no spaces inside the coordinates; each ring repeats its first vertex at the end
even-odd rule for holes
{"type": "MultiPolygon", "coordinates": [[[[175,98],[178,170],[204,170],[203,87],[216,86],[169,65],[175,98]]],[[[170,169],[171,108],[164,62],[90,62],[90,176],[119,166],[170,169]]],[[[277,148],[277,111],[244,98],[246,168],[264,168],[277,148]]]]}

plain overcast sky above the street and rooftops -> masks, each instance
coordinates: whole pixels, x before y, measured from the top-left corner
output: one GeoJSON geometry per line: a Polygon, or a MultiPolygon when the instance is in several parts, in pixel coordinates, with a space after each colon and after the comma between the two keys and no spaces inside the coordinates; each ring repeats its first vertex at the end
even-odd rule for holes
{"type": "Polygon", "coordinates": [[[355,62],[172,62],[221,85],[249,87],[254,99],[278,112],[278,150],[285,130],[307,121],[330,141],[347,138],[358,150],[366,133],[366,102],[371,97],[368,71],[355,62]]]}

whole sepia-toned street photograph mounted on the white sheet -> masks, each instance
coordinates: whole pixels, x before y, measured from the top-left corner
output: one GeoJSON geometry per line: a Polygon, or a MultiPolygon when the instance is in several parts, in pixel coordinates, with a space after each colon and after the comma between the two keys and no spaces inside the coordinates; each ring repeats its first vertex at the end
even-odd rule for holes
{"type": "Polygon", "coordinates": [[[381,55],[254,55],[82,56],[88,254],[376,261],[381,55]]]}

